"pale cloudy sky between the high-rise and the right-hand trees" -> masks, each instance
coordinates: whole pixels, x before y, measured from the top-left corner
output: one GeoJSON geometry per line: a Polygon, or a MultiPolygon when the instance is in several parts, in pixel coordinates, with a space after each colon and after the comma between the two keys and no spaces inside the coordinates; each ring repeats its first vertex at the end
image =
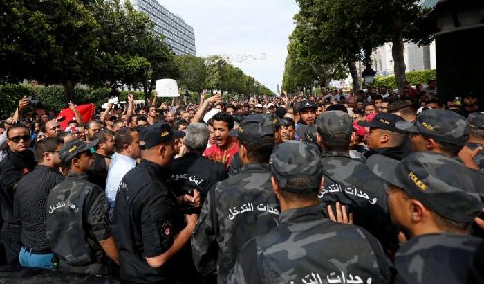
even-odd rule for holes
{"type": "Polygon", "coordinates": [[[277,92],[282,85],[295,0],[158,0],[195,30],[197,56],[225,55],[277,92]]]}

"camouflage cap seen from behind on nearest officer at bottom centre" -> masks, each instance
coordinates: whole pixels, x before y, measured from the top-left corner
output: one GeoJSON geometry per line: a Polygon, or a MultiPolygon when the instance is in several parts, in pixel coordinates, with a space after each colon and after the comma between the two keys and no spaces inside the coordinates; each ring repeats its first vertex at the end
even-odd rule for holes
{"type": "Polygon", "coordinates": [[[317,192],[321,186],[323,164],[319,151],[314,145],[290,140],[279,144],[270,156],[270,169],[277,184],[291,193],[317,192]],[[288,180],[306,177],[310,179],[310,188],[287,186],[288,180]]]}

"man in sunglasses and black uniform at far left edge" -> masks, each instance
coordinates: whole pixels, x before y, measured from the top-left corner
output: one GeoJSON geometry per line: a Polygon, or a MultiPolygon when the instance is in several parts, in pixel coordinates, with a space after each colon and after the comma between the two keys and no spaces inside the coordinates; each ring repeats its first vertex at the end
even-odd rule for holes
{"type": "Polygon", "coordinates": [[[7,264],[19,263],[21,249],[21,224],[14,216],[14,194],[19,180],[34,169],[34,154],[28,150],[30,146],[30,132],[20,123],[15,123],[7,130],[9,150],[0,161],[0,201],[1,240],[5,247],[7,264]]]}

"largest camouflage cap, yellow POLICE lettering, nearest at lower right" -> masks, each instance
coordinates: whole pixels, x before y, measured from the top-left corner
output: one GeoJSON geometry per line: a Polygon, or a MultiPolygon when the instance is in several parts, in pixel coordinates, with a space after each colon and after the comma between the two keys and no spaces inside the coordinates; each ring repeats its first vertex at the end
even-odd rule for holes
{"type": "Polygon", "coordinates": [[[455,222],[474,222],[481,212],[479,188],[484,175],[478,170],[435,152],[413,152],[402,161],[380,154],[366,165],[382,179],[403,188],[431,211],[455,222]]]}

